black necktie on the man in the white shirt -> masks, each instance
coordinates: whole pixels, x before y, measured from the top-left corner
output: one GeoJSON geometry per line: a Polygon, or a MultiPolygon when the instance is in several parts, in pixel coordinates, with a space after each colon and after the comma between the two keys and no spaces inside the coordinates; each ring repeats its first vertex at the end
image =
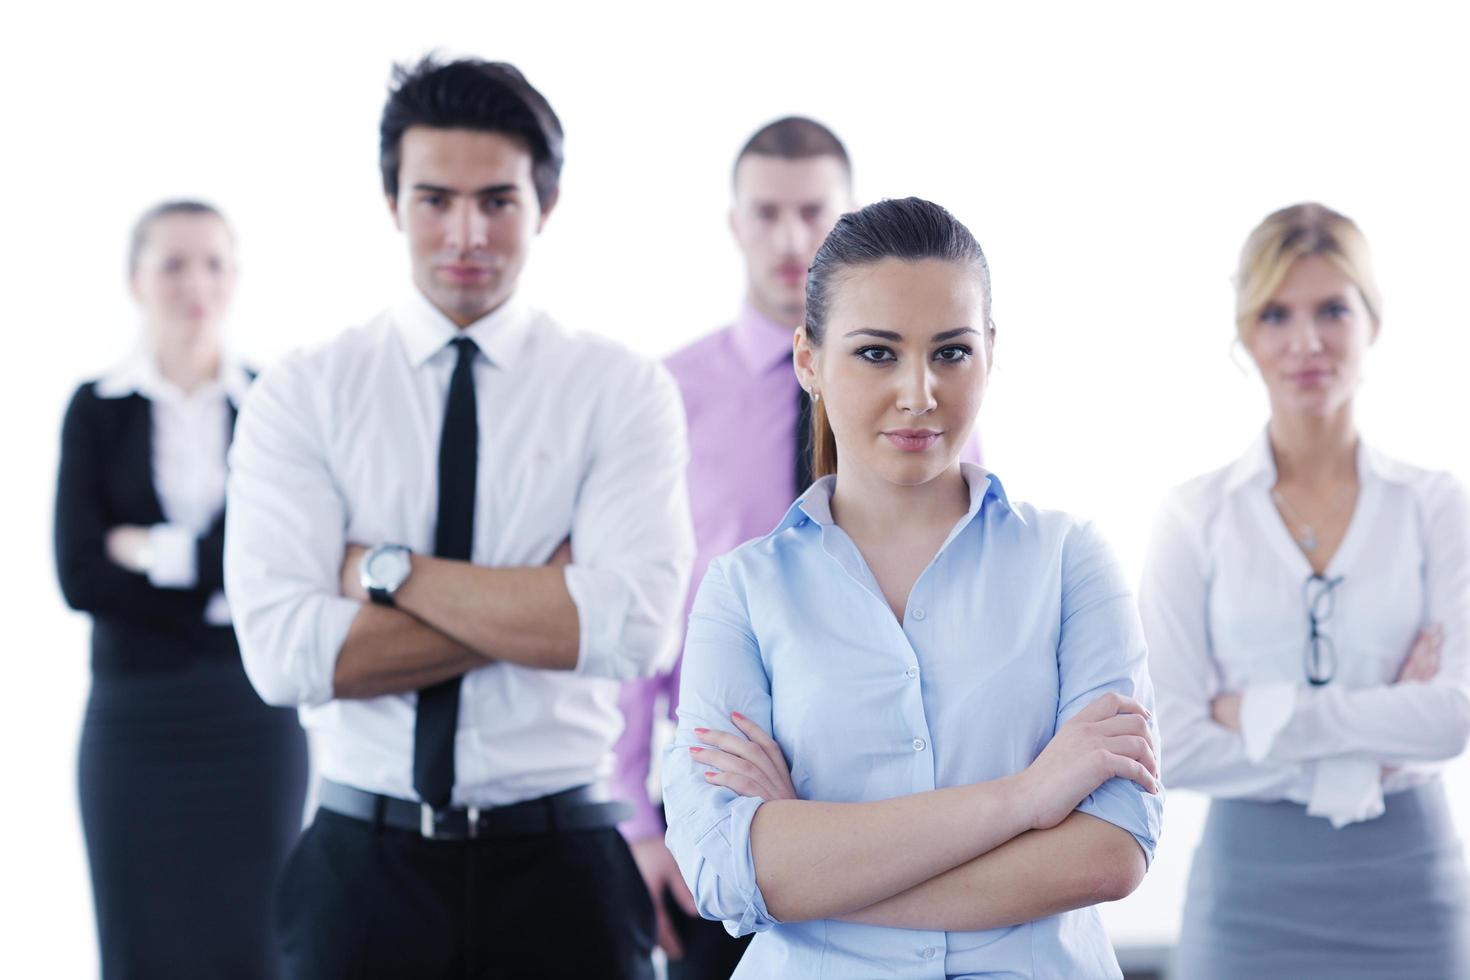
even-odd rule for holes
{"type": "MultiPolygon", "coordinates": [[[[460,336],[450,398],[440,435],[440,516],[434,554],[469,561],[475,532],[475,467],[479,457],[479,423],[475,419],[475,341],[460,336]]],[[[413,724],[413,789],[435,810],[447,807],[454,789],[454,732],[459,729],[460,679],[441,680],[419,691],[413,724]]]]}

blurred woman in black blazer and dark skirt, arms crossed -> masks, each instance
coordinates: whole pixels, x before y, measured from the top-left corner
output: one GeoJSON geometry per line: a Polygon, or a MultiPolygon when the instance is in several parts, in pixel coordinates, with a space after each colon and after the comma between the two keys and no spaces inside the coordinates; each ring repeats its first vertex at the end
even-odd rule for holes
{"type": "Polygon", "coordinates": [[[78,782],[103,976],[273,977],[306,741],[245,679],[220,591],[225,450],[248,383],[220,354],[223,216],[154,207],[129,272],[144,344],[72,398],[56,494],[62,592],[93,616],[78,782]]]}

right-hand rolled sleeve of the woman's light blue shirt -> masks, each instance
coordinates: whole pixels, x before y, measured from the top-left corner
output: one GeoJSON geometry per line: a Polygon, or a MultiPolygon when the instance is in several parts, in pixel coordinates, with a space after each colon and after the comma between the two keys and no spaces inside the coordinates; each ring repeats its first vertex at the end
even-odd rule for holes
{"type": "MultiPolygon", "coordinates": [[[[1133,595],[1111,550],[1091,525],[1080,526],[1063,551],[1061,676],[1057,724],[1104,693],[1116,692],[1154,710],[1148,649],[1133,595]]],[[[1158,727],[1148,723],[1155,752],[1163,758],[1158,727]]],[[[1127,779],[1110,779],[1079,811],[1127,830],[1150,864],[1163,824],[1163,793],[1145,792],[1127,779]]]]}

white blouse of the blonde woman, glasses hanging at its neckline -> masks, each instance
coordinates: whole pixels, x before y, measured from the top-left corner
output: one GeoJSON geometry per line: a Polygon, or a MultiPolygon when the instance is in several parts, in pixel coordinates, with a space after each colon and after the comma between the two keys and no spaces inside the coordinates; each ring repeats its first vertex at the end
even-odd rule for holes
{"type": "Polygon", "coordinates": [[[1470,504],[1448,473],[1360,441],[1358,500],[1326,567],[1341,577],[1320,632],[1336,674],[1304,657],[1311,566],[1272,502],[1263,433],[1230,466],[1164,501],[1139,589],[1169,786],[1289,799],[1333,826],[1433,779],[1470,736],[1470,504]],[[1444,627],[1438,676],[1394,683],[1419,632],[1444,627]],[[1210,701],[1242,695],[1241,733],[1210,701]]]}

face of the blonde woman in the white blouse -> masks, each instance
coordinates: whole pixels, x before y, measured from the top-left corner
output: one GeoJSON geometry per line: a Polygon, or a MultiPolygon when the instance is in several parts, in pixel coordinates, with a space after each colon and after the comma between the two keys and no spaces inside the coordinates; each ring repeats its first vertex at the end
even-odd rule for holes
{"type": "Polygon", "coordinates": [[[1298,259],[1248,328],[1245,347],[1273,414],[1327,417],[1352,401],[1377,323],[1357,285],[1323,256],[1298,259]]]}

